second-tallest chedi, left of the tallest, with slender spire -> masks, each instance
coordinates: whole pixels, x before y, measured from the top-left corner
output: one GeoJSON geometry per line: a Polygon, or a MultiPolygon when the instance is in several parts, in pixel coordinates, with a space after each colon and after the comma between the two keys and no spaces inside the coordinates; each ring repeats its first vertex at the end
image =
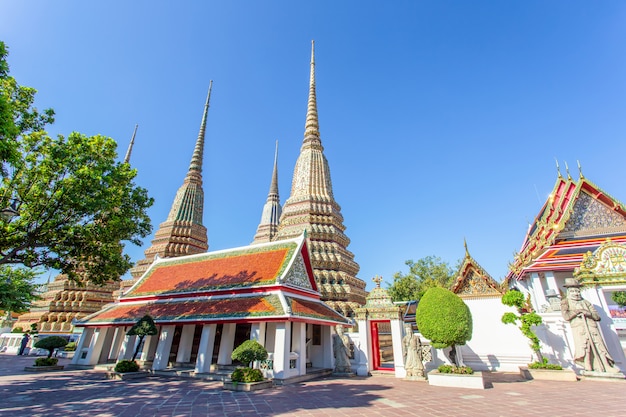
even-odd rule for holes
{"type": "Polygon", "coordinates": [[[146,257],[137,262],[135,267],[130,270],[133,279],[123,281],[123,287],[125,288],[132,285],[146,272],[156,256],[172,258],[204,253],[209,249],[207,230],[202,225],[204,207],[202,158],[204,156],[204,135],[212,86],[213,81],[209,85],[202,122],[200,123],[200,132],[198,133],[196,146],[183,185],[176,193],[170,214],[159,225],[159,230],[154,234],[152,245],[144,252],[146,257]]]}

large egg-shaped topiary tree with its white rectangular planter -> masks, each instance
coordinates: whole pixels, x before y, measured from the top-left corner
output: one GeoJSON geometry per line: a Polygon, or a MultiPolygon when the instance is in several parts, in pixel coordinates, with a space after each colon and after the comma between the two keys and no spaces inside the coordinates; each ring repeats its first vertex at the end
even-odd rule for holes
{"type": "Polygon", "coordinates": [[[420,333],[430,340],[432,347],[451,347],[451,365],[440,366],[428,373],[431,385],[463,388],[484,388],[481,372],[468,366],[458,366],[456,346],[464,345],[472,338],[472,314],[461,297],[445,288],[428,289],[420,299],[415,312],[420,333]]]}

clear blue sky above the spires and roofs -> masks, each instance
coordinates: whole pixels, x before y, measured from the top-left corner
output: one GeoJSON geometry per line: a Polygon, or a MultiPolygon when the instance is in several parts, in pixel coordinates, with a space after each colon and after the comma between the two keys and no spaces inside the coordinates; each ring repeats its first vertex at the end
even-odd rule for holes
{"type": "MultiPolygon", "coordinates": [[[[0,2],[11,73],[54,134],[115,138],[156,202],[182,184],[214,80],[204,159],[210,250],[251,242],[279,140],[289,196],[316,42],[335,198],[373,287],[404,261],[456,264],[467,239],[496,279],[556,179],[555,158],[626,201],[621,1],[0,2]]],[[[134,261],[144,246],[128,247],[134,261]]]]}

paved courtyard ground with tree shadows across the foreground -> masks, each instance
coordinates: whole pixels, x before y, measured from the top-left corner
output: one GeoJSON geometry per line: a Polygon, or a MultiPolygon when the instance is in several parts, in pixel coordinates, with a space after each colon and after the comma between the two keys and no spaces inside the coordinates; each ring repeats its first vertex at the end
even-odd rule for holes
{"type": "MultiPolygon", "coordinates": [[[[96,371],[30,373],[32,357],[0,354],[1,416],[623,416],[626,381],[523,381],[489,373],[485,390],[389,376],[326,378],[254,393],[221,383],[96,371]]],[[[61,359],[60,364],[68,364],[61,359]]]]}

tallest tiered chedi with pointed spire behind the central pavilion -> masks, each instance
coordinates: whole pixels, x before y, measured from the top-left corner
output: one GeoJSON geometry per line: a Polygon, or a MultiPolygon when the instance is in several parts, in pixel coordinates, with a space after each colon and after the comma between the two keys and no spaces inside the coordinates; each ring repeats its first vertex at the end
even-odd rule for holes
{"type": "Polygon", "coordinates": [[[315,94],[315,43],[311,43],[311,78],[304,141],[296,162],[291,195],[285,202],[273,240],[302,234],[310,241],[311,262],[322,299],[345,316],[365,304],[365,282],[356,277],[359,265],[347,249],[341,207],[333,197],[330,168],[324,156],[315,94]]]}

